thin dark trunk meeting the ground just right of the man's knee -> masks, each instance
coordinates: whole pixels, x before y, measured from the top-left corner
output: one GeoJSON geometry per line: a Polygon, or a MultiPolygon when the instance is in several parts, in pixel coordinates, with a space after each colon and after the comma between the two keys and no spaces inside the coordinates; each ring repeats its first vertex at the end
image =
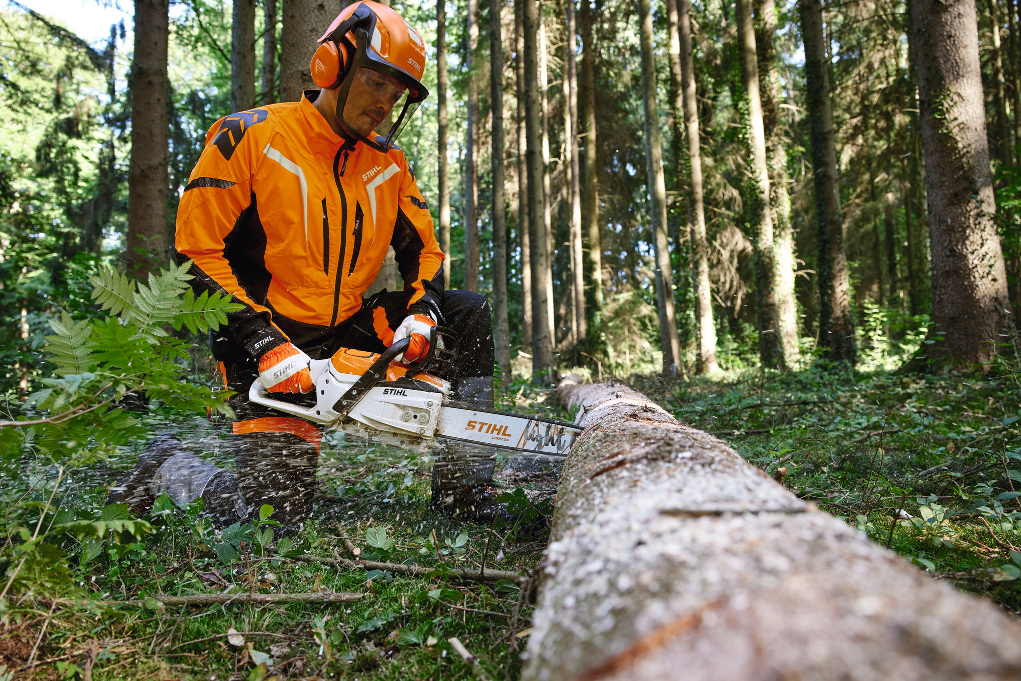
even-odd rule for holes
{"type": "Polygon", "coordinates": [[[510,382],[510,322],[507,319],[507,237],[503,206],[503,39],[502,0],[489,0],[489,101],[493,114],[493,298],[496,360],[503,383],[510,382]]]}

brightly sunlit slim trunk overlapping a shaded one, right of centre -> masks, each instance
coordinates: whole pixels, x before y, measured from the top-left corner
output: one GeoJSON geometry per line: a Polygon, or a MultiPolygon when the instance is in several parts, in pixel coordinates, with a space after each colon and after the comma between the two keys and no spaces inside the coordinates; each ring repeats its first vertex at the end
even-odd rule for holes
{"type": "Polygon", "coordinates": [[[756,231],[756,302],[759,308],[759,358],[763,367],[786,369],[780,344],[780,306],[777,301],[777,262],[773,243],[773,210],[770,207],[769,163],[766,159],[766,129],[759,92],[757,54],[751,0],[737,0],[737,33],[740,37],[741,84],[748,98],[748,146],[751,175],[756,182],[751,225],[756,231]]]}

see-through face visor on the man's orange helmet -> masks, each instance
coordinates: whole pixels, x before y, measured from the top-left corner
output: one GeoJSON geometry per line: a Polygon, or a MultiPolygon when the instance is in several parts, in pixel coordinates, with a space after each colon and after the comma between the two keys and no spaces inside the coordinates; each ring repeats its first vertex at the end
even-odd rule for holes
{"type": "Polygon", "coordinates": [[[358,66],[344,102],[344,123],[373,142],[384,138],[390,148],[418,108],[417,95],[394,76],[358,66]]]}

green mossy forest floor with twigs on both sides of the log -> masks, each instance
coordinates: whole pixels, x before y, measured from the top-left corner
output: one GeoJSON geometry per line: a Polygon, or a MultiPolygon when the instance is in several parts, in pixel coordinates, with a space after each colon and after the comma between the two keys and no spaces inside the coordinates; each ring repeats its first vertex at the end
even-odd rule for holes
{"type": "MultiPolygon", "coordinates": [[[[1002,370],[1002,371],[1001,371],[1002,370]]],[[[1021,609],[1021,451],[1017,377],[901,377],[819,369],[783,376],[664,383],[632,377],[683,423],[717,434],[746,459],[821,508],[845,519],[919,569],[959,588],[1021,609]],[[1017,467],[1018,470],[1015,470],[1017,467]],[[894,519],[897,519],[894,521],[894,519]]],[[[565,416],[551,391],[515,384],[501,406],[565,416]]],[[[154,415],[155,416],[155,415],[154,415]]],[[[153,432],[167,430],[153,419],[153,432]]],[[[196,453],[215,449],[214,429],[177,424],[196,453]],[[210,444],[211,443],[211,444],[210,444]]],[[[173,429],[169,429],[173,430],[173,429]]],[[[137,451],[112,464],[126,469],[137,451]]],[[[531,520],[548,515],[555,467],[516,472],[499,461],[497,481],[531,520]]],[[[97,507],[117,471],[103,465],[70,483],[97,507]]],[[[49,609],[0,637],[0,662],[14,678],[96,679],[491,679],[518,678],[530,631],[527,586],[464,581],[450,568],[528,574],[547,531],[480,527],[429,507],[431,466],[423,455],[326,438],[315,517],[290,546],[243,528],[246,550],[225,565],[200,538],[195,512],[160,513],[157,531],[109,545],[78,581],[94,597],[146,600],[159,594],[353,592],[335,604],[114,605],[49,609]],[[336,558],[436,567],[408,577],[336,558]],[[323,562],[317,562],[317,557],[323,562]],[[241,632],[229,636],[229,630],[241,632]],[[473,670],[448,642],[478,659],[473,670]],[[32,670],[25,670],[36,647],[32,670]]],[[[272,516],[270,519],[272,521],[272,516]]],[[[235,545],[238,542],[235,541],[235,545]]],[[[228,554],[227,557],[230,557],[228,554]]]]}

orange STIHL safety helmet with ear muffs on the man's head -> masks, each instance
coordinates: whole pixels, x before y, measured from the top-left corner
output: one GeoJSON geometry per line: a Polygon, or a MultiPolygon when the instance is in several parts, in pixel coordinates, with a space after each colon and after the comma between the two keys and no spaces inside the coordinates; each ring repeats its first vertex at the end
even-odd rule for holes
{"type": "Polygon", "coordinates": [[[345,135],[383,152],[394,148],[393,141],[410,121],[419,104],[429,96],[421,80],[426,67],[426,46],[422,36],[390,7],[362,0],[346,7],[319,42],[310,64],[312,81],[328,90],[340,86],[337,120],[345,135]],[[401,97],[400,114],[385,138],[369,139],[344,119],[347,93],[359,68],[391,76],[407,86],[401,97]]]}

